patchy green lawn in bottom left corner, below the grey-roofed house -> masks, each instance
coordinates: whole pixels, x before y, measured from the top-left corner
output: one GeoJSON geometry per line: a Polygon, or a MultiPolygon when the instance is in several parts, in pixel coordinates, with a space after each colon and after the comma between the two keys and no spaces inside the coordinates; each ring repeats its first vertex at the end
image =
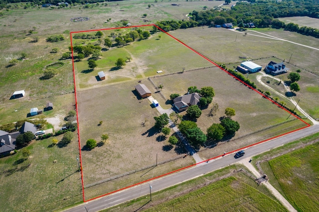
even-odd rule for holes
{"type": "Polygon", "coordinates": [[[63,148],[51,143],[52,137],[32,141],[29,159],[21,151],[0,158],[1,211],[55,211],[82,201],[76,139],[63,148]]]}

